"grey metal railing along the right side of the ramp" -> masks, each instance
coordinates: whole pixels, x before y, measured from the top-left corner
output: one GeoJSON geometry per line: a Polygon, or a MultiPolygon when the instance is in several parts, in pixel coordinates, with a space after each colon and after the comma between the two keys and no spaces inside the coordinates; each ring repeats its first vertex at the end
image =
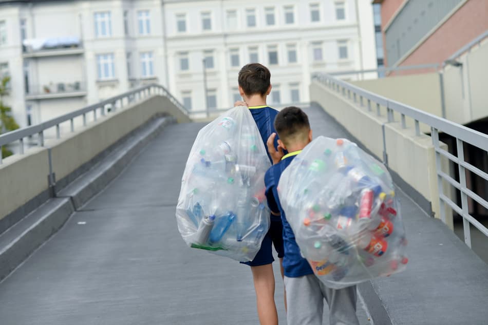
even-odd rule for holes
{"type": "MultiPolygon", "coordinates": [[[[373,107],[376,106],[376,113],[378,116],[381,115],[380,106],[386,107],[387,121],[395,122],[393,112],[400,114],[401,127],[406,128],[406,118],[414,120],[415,134],[417,136],[421,135],[420,124],[424,123],[430,126],[431,139],[435,147],[436,152],[436,167],[437,167],[437,181],[439,189],[439,203],[440,203],[440,218],[445,223],[446,222],[446,207],[447,204],[455,212],[457,212],[463,218],[463,230],[464,230],[464,242],[466,245],[471,247],[471,229],[470,224],[474,225],[478,230],[488,237],[488,228],[471,216],[468,212],[468,197],[472,200],[478,202],[480,205],[488,209],[488,201],[480,197],[478,194],[474,193],[473,190],[467,188],[466,186],[466,169],[472,173],[478,175],[482,179],[488,181],[488,174],[473,166],[472,164],[464,161],[464,151],[463,144],[468,143],[476,146],[488,152],[488,135],[478,132],[476,130],[467,128],[463,125],[454,123],[452,121],[439,118],[433,114],[424,112],[417,108],[387,99],[380,95],[374,94],[372,92],[366,91],[362,88],[351,85],[345,81],[339,80],[332,75],[315,73],[312,75],[312,81],[315,80],[319,83],[324,84],[326,87],[335,91],[346,100],[352,100],[354,103],[360,105],[360,107],[366,108],[368,111],[372,111],[373,107]],[[439,145],[439,131],[446,133],[456,139],[457,145],[457,156],[452,155],[448,151],[442,149],[439,145]],[[447,158],[449,161],[454,162],[459,168],[459,178],[460,181],[456,181],[450,175],[444,173],[441,169],[441,157],[447,158]],[[443,193],[443,181],[451,184],[454,188],[458,189],[461,193],[461,206],[458,206],[450,198],[448,198],[443,193]]],[[[387,164],[386,156],[386,145],[385,145],[385,133],[383,125],[383,158],[387,164]]]]}

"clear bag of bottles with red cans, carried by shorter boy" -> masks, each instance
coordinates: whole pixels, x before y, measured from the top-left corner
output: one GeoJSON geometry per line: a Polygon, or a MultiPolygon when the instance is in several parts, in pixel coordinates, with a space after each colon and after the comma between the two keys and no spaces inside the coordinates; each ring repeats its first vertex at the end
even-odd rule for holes
{"type": "Polygon", "coordinates": [[[330,288],[404,270],[395,187],[384,165],[356,144],[318,137],[285,169],[278,195],[302,255],[330,288]]]}

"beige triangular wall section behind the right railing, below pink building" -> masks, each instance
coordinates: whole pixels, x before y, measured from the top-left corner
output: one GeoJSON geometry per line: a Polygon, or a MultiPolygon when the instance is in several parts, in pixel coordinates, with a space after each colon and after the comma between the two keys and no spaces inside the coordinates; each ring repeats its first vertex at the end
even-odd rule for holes
{"type": "MultiPolygon", "coordinates": [[[[442,117],[441,87],[437,72],[351,81],[350,83],[442,117]]],[[[400,116],[397,114],[395,119],[399,121],[400,116]]],[[[413,122],[407,119],[407,125],[412,126],[413,122]]],[[[430,128],[426,125],[421,125],[421,130],[430,132],[430,128]]]]}

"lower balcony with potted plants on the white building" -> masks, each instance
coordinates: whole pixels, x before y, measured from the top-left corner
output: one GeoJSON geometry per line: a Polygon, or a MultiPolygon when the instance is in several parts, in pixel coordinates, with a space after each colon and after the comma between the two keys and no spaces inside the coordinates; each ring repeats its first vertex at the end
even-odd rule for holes
{"type": "Polygon", "coordinates": [[[83,97],[86,95],[86,83],[59,82],[46,85],[30,85],[26,89],[27,100],[83,97]]]}

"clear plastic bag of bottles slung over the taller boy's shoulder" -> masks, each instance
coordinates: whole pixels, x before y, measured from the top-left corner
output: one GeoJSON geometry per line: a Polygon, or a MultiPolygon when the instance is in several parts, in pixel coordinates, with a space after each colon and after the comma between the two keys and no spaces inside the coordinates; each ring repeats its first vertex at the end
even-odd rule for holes
{"type": "Polygon", "coordinates": [[[251,112],[234,107],[197,135],[181,181],[178,230],[191,247],[251,261],[269,230],[271,166],[251,112]]]}

